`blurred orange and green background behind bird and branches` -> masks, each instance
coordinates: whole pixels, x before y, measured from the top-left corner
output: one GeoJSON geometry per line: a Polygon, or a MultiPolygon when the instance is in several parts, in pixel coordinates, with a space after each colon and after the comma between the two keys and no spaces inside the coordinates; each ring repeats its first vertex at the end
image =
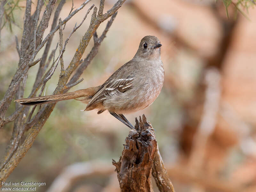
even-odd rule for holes
{"type": "MultiPolygon", "coordinates": [[[[115,2],[106,0],[104,11],[115,2]]],[[[134,117],[144,113],[156,129],[159,150],[177,192],[256,191],[256,10],[253,0],[245,2],[250,7],[242,9],[244,15],[231,4],[227,16],[222,1],[127,0],[83,73],[84,81],[70,90],[102,84],[132,59],[142,37],[157,36],[163,44],[164,87],[150,107],[126,117],[134,124],[134,117]]],[[[74,7],[82,3],[76,0],[74,7]]],[[[98,7],[99,1],[92,0],[86,7],[92,4],[98,7]]],[[[20,1],[20,6],[24,5],[20,1]]],[[[62,19],[71,6],[72,1],[67,1],[60,13],[62,19]]],[[[87,8],[67,23],[63,39],[75,22],[81,22],[87,8]]],[[[23,15],[23,8],[15,10],[17,25],[12,25],[12,33],[8,26],[1,31],[0,98],[17,68],[14,35],[21,40],[23,15]]],[[[89,18],[71,36],[63,55],[65,66],[87,30],[89,18]]],[[[100,25],[98,34],[105,25],[100,25]]],[[[58,40],[56,33],[50,50],[58,40]]],[[[92,46],[93,41],[84,57],[92,46]]],[[[30,69],[24,97],[31,90],[37,68],[30,69]]],[[[46,95],[56,87],[60,65],[56,71],[46,84],[46,95]]],[[[129,129],[107,111],[100,115],[80,111],[85,107],[76,100],[60,101],[7,181],[46,182],[36,188],[39,192],[120,191],[111,162],[121,156],[129,129]],[[64,189],[57,179],[62,179],[64,189]]],[[[13,110],[12,103],[8,114],[13,110]]],[[[12,126],[0,130],[0,157],[12,126]]]]}

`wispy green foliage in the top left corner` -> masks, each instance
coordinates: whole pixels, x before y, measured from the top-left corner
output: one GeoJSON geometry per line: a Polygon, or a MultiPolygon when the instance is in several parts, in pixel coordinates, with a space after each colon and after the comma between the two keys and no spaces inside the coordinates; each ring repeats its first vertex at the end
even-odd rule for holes
{"type": "MultiPolygon", "coordinates": [[[[3,25],[0,26],[1,29],[4,26],[9,27],[10,31],[12,32],[12,24],[17,25],[15,23],[14,18],[14,11],[17,9],[21,9],[23,7],[19,6],[20,0],[8,0],[7,3],[4,5],[4,16],[3,16],[3,25]]],[[[17,25],[18,26],[18,25],[17,25]]]]}

